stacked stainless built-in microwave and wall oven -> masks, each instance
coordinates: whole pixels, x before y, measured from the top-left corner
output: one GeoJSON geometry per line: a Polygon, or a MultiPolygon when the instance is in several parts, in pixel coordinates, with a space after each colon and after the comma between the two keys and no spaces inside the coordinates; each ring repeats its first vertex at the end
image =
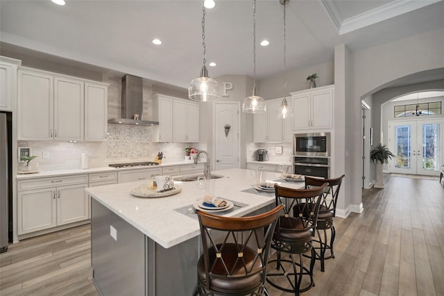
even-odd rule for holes
{"type": "Polygon", "coordinates": [[[330,133],[293,135],[293,172],[330,177],[330,133]]]}

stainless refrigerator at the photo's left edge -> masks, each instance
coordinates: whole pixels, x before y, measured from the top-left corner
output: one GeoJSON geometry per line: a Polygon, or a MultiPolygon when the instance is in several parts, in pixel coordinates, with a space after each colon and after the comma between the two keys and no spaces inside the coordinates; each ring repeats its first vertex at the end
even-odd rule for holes
{"type": "Polygon", "coordinates": [[[8,250],[12,220],[12,115],[0,112],[0,253],[8,250]]]}

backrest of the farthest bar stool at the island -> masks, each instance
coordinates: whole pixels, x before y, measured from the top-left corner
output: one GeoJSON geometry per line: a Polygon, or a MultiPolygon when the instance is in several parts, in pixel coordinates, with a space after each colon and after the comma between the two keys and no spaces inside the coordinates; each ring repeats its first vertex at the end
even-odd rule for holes
{"type": "Polygon", "coordinates": [[[333,217],[336,215],[336,203],[338,201],[339,189],[345,174],[334,179],[316,179],[309,176],[305,177],[305,188],[316,188],[327,182],[327,189],[323,193],[321,201],[321,211],[333,211],[333,217]]]}

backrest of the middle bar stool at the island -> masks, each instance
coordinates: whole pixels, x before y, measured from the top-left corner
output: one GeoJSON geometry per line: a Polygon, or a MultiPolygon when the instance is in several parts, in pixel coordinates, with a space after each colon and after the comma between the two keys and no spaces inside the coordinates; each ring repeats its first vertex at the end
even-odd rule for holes
{"type": "Polygon", "coordinates": [[[278,231],[306,231],[316,228],[318,211],[327,183],[309,189],[293,189],[275,185],[275,202],[284,204],[284,216],[280,217],[278,231]],[[296,220],[289,213],[298,213],[296,220]]]}

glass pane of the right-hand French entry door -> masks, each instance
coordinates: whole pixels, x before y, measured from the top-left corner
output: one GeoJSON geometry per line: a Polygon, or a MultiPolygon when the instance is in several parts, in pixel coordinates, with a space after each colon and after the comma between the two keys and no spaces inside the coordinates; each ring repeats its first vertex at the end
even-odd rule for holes
{"type": "Polygon", "coordinates": [[[422,169],[437,170],[440,165],[440,143],[441,143],[440,124],[422,124],[422,169]]]}

